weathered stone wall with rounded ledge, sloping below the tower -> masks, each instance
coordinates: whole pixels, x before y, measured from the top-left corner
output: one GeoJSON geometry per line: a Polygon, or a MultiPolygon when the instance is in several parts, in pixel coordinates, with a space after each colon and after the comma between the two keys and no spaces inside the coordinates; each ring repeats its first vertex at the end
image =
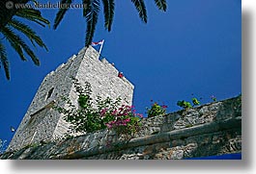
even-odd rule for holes
{"type": "Polygon", "coordinates": [[[1,158],[176,160],[242,152],[241,96],[142,122],[142,130],[128,140],[102,130],[32,144],[1,158]]]}

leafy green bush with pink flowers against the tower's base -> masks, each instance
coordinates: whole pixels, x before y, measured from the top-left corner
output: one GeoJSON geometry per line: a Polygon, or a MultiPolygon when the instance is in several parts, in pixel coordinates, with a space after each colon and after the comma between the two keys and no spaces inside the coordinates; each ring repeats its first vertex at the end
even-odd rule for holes
{"type": "Polygon", "coordinates": [[[122,105],[122,100],[107,97],[97,97],[95,103],[91,97],[90,83],[82,87],[77,79],[72,78],[73,85],[78,93],[78,109],[69,98],[63,98],[67,108],[55,106],[55,110],[63,113],[64,119],[71,123],[74,133],[92,133],[101,129],[113,129],[118,135],[131,135],[140,127],[141,114],[136,113],[132,106],[122,105]]]}

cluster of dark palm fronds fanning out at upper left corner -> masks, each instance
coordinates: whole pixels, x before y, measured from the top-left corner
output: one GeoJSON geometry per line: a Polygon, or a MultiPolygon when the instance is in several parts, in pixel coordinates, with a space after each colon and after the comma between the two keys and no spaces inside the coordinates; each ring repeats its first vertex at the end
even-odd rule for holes
{"type": "MultiPolygon", "coordinates": [[[[46,45],[43,43],[41,37],[39,37],[28,25],[19,21],[17,18],[27,19],[31,22],[35,22],[37,24],[45,27],[44,24],[49,25],[49,21],[43,18],[40,11],[36,9],[19,9],[15,12],[14,17],[11,18],[5,26],[1,26],[0,33],[4,36],[11,46],[14,48],[14,51],[18,54],[21,61],[27,61],[25,58],[26,53],[31,60],[36,64],[40,65],[40,61],[38,57],[35,55],[34,51],[27,45],[27,43],[17,35],[15,32],[19,32],[27,37],[34,47],[36,44],[47,51],[46,45]]],[[[6,78],[10,80],[10,69],[8,56],[6,54],[6,48],[0,40],[0,63],[4,66],[6,78]]],[[[1,67],[1,66],[0,66],[1,67]]]]}

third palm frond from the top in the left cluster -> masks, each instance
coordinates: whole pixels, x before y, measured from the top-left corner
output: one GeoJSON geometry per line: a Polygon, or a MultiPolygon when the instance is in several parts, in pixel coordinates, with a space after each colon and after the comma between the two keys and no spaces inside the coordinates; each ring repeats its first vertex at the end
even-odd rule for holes
{"type": "Polygon", "coordinates": [[[29,46],[20,37],[18,37],[16,34],[14,34],[14,32],[12,31],[12,29],[9,26],[5,26],[4,28],[2,28],[1,32],[8,39],[8,41],[11,44],[19,45],[29,55],[29,57],[32,59],[32,61],[36,65],[40,65],[40,61],[36,57],[34,52],[29,48],[29,46]]]}

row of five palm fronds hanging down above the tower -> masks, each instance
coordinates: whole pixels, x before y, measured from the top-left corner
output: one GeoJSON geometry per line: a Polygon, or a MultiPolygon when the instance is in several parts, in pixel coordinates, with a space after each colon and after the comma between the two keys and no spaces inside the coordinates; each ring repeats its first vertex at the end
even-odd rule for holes
{"type": "MultiPolygon", "coordinates": [[[[61,0],[61,4],[68,5],[67,8],[61,8],[56,14],[53,28],[57,29],[60,22],[62,21],[64,15],[71,8],[73,0],[61,0]]],[[[114,19],[114,11],[115,11],[115,1],[114,0],[101,0],[103,5],[103,13],[104,13],[104,27],[110,32],[113,19],[114,19]]],[[[100,12],[100,0],[82,0],[84,5],[83,7],[83,17],[86,19],[86,37],[85,37],[85,46],[89,46],[94,37],[94,33],[96,30],[96,25],[99,18],[100,12]]],[[[139,17],[144,23],[147,23],[147,10],[144,3],[144,0],[131,0],[131,3],[134,5],[137,10],[139,17]]],[[[166,0],[155,0],[156,7],[158,10],[165,12],[167,9],[166,0]]]]}

